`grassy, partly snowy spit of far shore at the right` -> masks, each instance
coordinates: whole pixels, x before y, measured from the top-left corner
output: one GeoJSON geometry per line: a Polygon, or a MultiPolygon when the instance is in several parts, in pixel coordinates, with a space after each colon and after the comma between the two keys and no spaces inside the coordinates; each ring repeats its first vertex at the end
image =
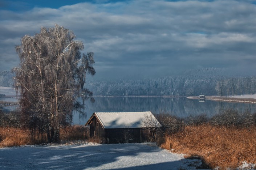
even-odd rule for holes
{"type": "MultiPolygon", "coordinates": [[[[188,96],[188,99],[198,99],[199,96],[188,96]]],[[[239,96],[205,96],[206,100],[223,101],[223,102],[235,102],[235,103],[256,103],[255,98],[249,98],[248,95],[239,96]]]]}

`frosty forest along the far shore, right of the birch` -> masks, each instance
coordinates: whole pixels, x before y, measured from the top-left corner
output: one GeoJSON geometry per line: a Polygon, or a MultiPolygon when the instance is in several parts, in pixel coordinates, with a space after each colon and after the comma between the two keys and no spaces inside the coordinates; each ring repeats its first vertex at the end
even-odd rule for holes
{"type": "Polygon", "coordinates": [[[255,84],[256,76],[227,75],[223,69],[206,68],[143,80],[90,80],[86,88],[94,95],[237,95],[256,93],[255,84]]]}

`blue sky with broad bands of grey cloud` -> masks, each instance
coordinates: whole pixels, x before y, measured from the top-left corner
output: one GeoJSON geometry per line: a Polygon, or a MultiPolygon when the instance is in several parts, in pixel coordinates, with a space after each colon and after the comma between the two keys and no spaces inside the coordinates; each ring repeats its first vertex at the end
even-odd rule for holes
{"type": "Polygon", "coordinates": [[[40,28],[64,26],[94,52],[97,80],[188,69],[256,74],[255,0],[0,0],[0,70],[40,28]]]}

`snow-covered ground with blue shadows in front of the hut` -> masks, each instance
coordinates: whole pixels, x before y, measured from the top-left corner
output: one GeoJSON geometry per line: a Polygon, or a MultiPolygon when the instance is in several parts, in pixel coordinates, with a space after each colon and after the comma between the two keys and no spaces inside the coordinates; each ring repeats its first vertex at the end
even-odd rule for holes
{"type": "MultiPolygon", "coordinates": [[[[21,146],[0,149],[0,169],[194,169],[182,155],[154,143],[21,146]]],[[[194,163],[191,163],[194,162],[194,163]]]]}

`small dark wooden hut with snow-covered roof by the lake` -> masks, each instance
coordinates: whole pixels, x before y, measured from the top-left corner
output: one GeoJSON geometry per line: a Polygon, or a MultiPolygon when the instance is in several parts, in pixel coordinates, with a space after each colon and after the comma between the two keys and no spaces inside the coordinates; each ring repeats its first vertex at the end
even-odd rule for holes
{"type": "Polygon", "coordinates": [[[145,142],[149,128],[161,127],[151,111],[94,112],[85,125],[90,126],[90,137],[97,136],[108,144],[145,142]]]}

